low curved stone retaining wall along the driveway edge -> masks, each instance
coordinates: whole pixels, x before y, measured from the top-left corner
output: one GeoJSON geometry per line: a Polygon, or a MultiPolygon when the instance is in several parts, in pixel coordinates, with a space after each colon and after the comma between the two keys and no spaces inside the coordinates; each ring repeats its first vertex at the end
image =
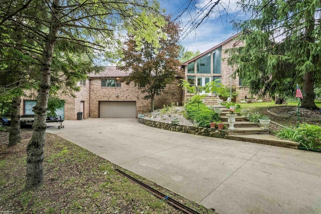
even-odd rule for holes
{"type": "Polygon", "coordinates": [[[159,121],[143,119],[143,118],[138,118],[138,122],[151,127],[155,127],[155,128],[162,128],[162,129],[171,130],[171,131],[178,131],[178,132],[184,132],[184,133],[190,133],[190,134],[196,134],[196,135],[202,135],[202,136],[211,136],[211,137],[228,139],[228,132],[225,129],[170,124],[170,123],[159,122],[159,121]]]}

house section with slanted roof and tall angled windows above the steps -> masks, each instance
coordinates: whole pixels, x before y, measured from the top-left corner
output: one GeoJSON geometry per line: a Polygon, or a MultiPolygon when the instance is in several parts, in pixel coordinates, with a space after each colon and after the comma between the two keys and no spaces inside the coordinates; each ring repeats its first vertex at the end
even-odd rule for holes
{"type": "MultiPolygon", "coordinates": [[[[231,78],[231,74],[235,71],[234,66],[227,64],[227,58],[229,55],[225,53],[226,49],[243,45],[242,42],[236,41],[235,38],[238,34],[226,39],[220,44],[212,47],[211,49],[199,54],[198,56],[184,62],[182,67],[184,69],[184,78],[191,85],[204,86],[209,81],[219,79],[222,84],[228,86],[235,86],[239,95],[236,97],[236,102],[240,102],[245,96],[250,97],[248,90],[240,88],[241,81],[236,78],[231,78]]],[[[200,94],[205,94],[205,91],[200,91],[200,94]]],[[[211,97],[211,93],[207,93],[208,97],[211,97]]],[[[187,90],[184,90],[183,101],[186,101],[192,94],[189,94],[187,90]]]]}

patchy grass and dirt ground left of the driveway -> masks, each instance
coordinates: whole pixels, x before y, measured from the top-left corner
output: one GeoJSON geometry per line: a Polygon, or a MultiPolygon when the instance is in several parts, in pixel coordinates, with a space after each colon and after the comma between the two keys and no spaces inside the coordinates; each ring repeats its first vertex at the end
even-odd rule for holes
{"type": "MultiPolygon", "coordinates": [[[[8,147],[8,132],[0,131],[0,212],[183,213],[119,175],[114,170],[119,166],[50,133],[46,133],[44,146],[44,185],[37,191],[24,191],[26,146],[31,134],[32,131],[22,131],[22,142],[8,147]]],[[[200,213],[215,213],[120,169],[200,213]]]]}

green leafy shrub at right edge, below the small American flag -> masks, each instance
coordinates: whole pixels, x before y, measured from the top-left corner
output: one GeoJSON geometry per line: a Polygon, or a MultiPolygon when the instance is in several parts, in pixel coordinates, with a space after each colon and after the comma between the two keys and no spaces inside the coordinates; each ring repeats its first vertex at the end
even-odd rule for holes
{"type": "Polygon", "coordinates": [[[290,139],[299,142],[306,148],[321,148],[321,127],[308,123],[301,123],[297,128],[283,128],[276,133],[276,136],[283,139],[290,139]]]}

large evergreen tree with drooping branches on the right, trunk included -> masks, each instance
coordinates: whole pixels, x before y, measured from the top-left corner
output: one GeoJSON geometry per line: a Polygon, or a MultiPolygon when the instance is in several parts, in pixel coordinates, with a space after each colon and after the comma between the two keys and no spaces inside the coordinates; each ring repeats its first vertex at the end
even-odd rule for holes
{"type": "Polygon", "coordinates": [[[315,0],[241,0],[251,19],[235,23],[245,46],[230,50],[242,84],[254,94],[292,93],[301,85],[301,107],[318,109],[313,87],[321,80],[321,5],[315,0]]]}

